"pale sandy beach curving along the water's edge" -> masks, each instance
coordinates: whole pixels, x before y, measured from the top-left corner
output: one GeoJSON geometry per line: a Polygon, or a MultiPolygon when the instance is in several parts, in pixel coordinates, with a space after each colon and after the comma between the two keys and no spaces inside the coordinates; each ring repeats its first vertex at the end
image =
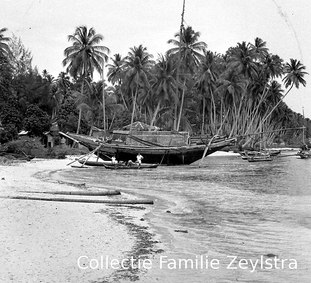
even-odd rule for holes
{"type": "MultiPolygon", "coordinates": [[[[70,158],[33,159],[15,166],[0,166],[0,195],[51,197],[20,191],[88,190],[89,184],[79,187],[50,179],[49,172],[70,168],[66,166],[69,161],[70,158]]],[[[74,197],[94,198],[70,195],[74,197]]],[[[95,198],[109,197],[124,195],[95,198]]],[[[0,282],[22,283],[109,282],[105,281],[109,276],[116,276],[112,268],[81,269],[78,258],[87,256],[88,260],[81,261],[81,265],[87,266],[90,259],[100,261],[101,256],[129,256],[139,242],[139,226],[133,223],[139,223],[145,213],[141,207],[3,198],[0,211],[0,282]],[[130,222],[125,216],[129,212],[130,222]]],[[[121,274],[126,276],[132,274],[121,274]]]]}

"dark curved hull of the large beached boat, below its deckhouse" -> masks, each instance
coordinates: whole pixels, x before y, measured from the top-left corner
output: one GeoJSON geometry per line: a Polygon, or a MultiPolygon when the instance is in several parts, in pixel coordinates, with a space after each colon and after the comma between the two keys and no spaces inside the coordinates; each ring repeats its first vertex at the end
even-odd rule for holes
{"type": "MultiPolygon", "coordinates": [[[[99,157],[103,160],[109,160],[109,158],[115,155],[117,160],[134,161],[138,153],[140,153],[144,158],[144,163],[187,165],[201,159],[206,148],[205,144],[171,147],[112,144],[99,141],[97,137],[86,135],[67,133],[67,136],[86,146],[90,151],[96,149],[101,144],[99,157]]],[[[235,139],[211,143],[205,156],[230,145],[233,141],[235,139]]]]}

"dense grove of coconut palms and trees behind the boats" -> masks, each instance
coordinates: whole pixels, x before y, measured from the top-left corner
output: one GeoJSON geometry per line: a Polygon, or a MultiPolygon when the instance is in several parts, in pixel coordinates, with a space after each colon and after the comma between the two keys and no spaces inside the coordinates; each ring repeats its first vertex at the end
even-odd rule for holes
{"type": "Polygon", "coordinates": [[[283,101],[293,88],[306,86],[306,67],[295,59],[284,63],[259,37],[220,54],[208,50],[200,33],[188,26],[156,58],[143,45],[130,47],[124,57],[114,53],[108,58],[104,36],[80,26],[68,36],[66,71],[55,79],[33,67],[32,53],[20,38],[5,34],[7,29],[0,29],[3,135],[5,128],[17,132],[28,127],[29,113],[39,113],[37,106],[44,111],[40,117],[48,115],[65,132],[88,134],[92,126],[111,130],[140,121],[193,135],[239,137],[241,146],[263,138],[254,133],[285,128],[294,129],[267,133],[264,139],[301,140],[297,128],[303,125],[311,137],[310,119],[283,101]],[[93,81],[94,72],[100,74],[99,82],[93,81]]]}

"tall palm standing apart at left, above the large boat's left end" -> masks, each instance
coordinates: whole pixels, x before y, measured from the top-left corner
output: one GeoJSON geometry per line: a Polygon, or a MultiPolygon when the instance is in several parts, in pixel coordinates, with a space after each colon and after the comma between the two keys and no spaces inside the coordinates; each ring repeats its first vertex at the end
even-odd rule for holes
{"type": "MultiPolygon", "coordinates": [[[[86,74],[89,73],[93,77],[94,70],[101,74],[102,66],[104,66],[104,62],[107,62],[108,57],[105,53],[109,53],[109,49],[98,45],[103,40],[103,35],[96,34],[94,28],[87,31],[86,26],[77,27],[73,35],[68,35],[68,41],[72,42],[72,46],[64,50],[66,58],[63,60],[63,65],[65,67],[69,64],[67,72],[73,78],[76,79],[78,75],[82,77],[82,95],[86,74]]],[[[77,134],[80,128],[81,113],[82,108],[80,107],[77,134]]]]}

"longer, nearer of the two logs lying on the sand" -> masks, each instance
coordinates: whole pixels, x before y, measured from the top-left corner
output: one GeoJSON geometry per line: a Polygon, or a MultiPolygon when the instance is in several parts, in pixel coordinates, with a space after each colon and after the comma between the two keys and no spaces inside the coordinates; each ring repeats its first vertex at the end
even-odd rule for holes
{"type": "Polygon", "coordinates": [[[104,199],[77,199],[77,198],[44,198],[33,196],[12,196],[0,195],[0,198],[10,199],[29,199],[29,200],[45,200],[45,201],[64,201],[64,202],[86,202],[86,203],[109,203],[109,204],[154,204],[152,199],[121,199],[121,200],[104,200],[104,199]]]}

